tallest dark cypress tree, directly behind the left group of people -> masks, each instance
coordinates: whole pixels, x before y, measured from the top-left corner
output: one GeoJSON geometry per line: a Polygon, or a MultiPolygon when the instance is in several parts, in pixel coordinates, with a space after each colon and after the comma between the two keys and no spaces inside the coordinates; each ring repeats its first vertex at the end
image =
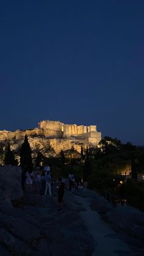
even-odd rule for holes
{"type": "Polygon", "coordinates": [[[32,172],[32,150],[29,145],[27,135],[24,137],[24,142],[21,146],[20,150],[20,166],[23,168],[24,166],[27,167],[27,170],[32,172]]]}

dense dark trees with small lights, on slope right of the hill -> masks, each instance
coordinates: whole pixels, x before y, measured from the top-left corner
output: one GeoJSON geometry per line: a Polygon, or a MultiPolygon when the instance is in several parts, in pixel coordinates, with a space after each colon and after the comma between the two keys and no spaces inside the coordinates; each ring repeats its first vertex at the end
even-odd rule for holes
{"type": "Polygon", "coordinates": [[[68,177],[72,172],[87,181],[88,188],[107,190],[144,210],[144,184],[137,180],[137,175],[144,175],[143,147],[135,147],[130,142],[121,144],[117,138],[104,137],[97,148],[83,151],[81,147],[79,158],[65,157],[65,164],[62,163],[64,153],[61,152],[60,158],[48,158],[54,177],[68,177]]]}

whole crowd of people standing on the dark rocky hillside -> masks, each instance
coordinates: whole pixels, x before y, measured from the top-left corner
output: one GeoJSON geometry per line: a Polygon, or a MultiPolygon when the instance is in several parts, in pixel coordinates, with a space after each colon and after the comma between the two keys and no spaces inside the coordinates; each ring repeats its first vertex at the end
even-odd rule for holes
{"type": "Polygon", "coordinates": [[[48,165],[43,168],[42,172],[39,169],[29,171],[26,166],[22,169],[21,185],[25,192],[37,195],[45,194],[45,196],[49,194],[49,196],[52,196],[51,187],[54,184],[57,185],[57,183],[59,183],[57,186],[59,209],[62,210],[61,204],[65,189],[69,191],[77,189],[80,180],[77,180],[73,174],[68,174],[68,178],[59,177],[57,180],[54,180],[48,165]]]}

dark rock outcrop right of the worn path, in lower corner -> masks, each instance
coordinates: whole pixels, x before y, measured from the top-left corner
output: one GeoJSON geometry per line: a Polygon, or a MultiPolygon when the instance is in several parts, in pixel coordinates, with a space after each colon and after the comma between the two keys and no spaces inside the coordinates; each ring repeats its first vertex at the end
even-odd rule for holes
{"type": "Polygon", "coordinates": [[[144,213],[142,211],[120,205],[104,214],[103,219],[129,243],[135,255],[144,255],[144,213]]]}

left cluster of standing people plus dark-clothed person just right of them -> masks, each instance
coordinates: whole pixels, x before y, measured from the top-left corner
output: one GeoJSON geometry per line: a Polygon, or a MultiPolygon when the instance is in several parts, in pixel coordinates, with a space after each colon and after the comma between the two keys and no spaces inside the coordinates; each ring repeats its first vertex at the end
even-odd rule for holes
{"type": "MultiPolygon", "coordinates": [[[[52,196],[51,186],[53,185],[53,177],[51,175],[50,167],[46,165],[41,173],[40,170],[29,171],[24,166],[21,174],[21,185],[24,191],[34,194],[45,194],[49,193],[52,196]]],[[[62,178],[58,178],[59,186],[57,186],[59,210],[62,210],[63,196],[65,192],[65,182],[62,178]]]]}

